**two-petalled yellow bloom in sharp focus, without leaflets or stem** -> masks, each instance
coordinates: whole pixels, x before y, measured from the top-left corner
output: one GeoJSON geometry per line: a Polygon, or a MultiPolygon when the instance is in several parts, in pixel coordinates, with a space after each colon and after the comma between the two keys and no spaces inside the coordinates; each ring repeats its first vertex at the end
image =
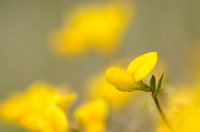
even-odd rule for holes
{"type": "Polygon", "coordinates": [[[133,60],[127,70],[112,67],[106,71],[107,81],[120,91],[133,91],[157,62],[157,53],[149,52],[133,60]]]}

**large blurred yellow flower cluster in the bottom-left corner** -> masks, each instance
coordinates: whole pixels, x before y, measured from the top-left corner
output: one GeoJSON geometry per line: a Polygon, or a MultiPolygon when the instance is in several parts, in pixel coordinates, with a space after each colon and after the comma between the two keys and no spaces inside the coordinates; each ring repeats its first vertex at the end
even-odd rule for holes
{"type": "Polygon", "coordinates": [[[75,93],[65,96],[48,83],[36,82],[25,93],[16,93],[2,102],[0,115],[30,131],[67,132],[65,107],[75,97],[75,93]]]}

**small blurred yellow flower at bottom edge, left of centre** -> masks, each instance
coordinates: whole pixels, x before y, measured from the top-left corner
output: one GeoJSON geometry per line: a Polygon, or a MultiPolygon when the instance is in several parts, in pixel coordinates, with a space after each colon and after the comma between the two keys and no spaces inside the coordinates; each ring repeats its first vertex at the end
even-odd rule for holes
{"type": "Polygon", "coordinates": [[[93,100],[75,111],[76,120],[86,132],[104,132],[108,106],[105,100],[93,100]]]}

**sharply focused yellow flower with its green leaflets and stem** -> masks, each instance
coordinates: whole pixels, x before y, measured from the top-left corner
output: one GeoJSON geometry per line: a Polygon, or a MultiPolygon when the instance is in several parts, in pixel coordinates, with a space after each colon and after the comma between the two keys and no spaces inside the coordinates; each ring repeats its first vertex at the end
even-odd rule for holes
{"type": "Polygon", "coordinates": [[[152,98],[156,104],[156,108],[161,115],[164,123],[173,131],[171,125],[167,121],[167,118],[162,111],[157,96],[162,92],[161,84],[163,80],[163,75],[160,77],[158,85],[156,86],[156,78],[152,75],[150,79],[150,86],[145,84],[142,79],[146,77],[154,68],[157,62],[157,53],[149,52],[146,53],[135,60],[133,60],[127,70],[120,69],[117,67],[112,67],[108,69],[105,73],[107,81],[115,86],[118,90],[122,92],[131,92],[133,90],[141,90],[152,93],[152,98]]]}

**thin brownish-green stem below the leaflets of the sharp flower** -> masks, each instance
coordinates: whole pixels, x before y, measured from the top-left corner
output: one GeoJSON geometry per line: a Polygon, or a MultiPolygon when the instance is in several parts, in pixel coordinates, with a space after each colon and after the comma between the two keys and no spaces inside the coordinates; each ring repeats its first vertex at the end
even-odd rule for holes
{"type": "Polygon", "coordinates": [[[152,91],[152,97],[153,97],[153,100],[156,104],[156,108],[160,114],[160,116],[162,117],[164,123],[167,125],[167,127],[169,128],[170,131],[174,132],[174,130],[172,129],[171,125],[169,124],[169,122],[167,121],[167,118],[165,116],[165,114],[163,113],[161,107],[160,107],[160,104],[159,104],[159,101],[158,101],[158,98],[157,96],[154,94],[154,92],[152,91]]]}

